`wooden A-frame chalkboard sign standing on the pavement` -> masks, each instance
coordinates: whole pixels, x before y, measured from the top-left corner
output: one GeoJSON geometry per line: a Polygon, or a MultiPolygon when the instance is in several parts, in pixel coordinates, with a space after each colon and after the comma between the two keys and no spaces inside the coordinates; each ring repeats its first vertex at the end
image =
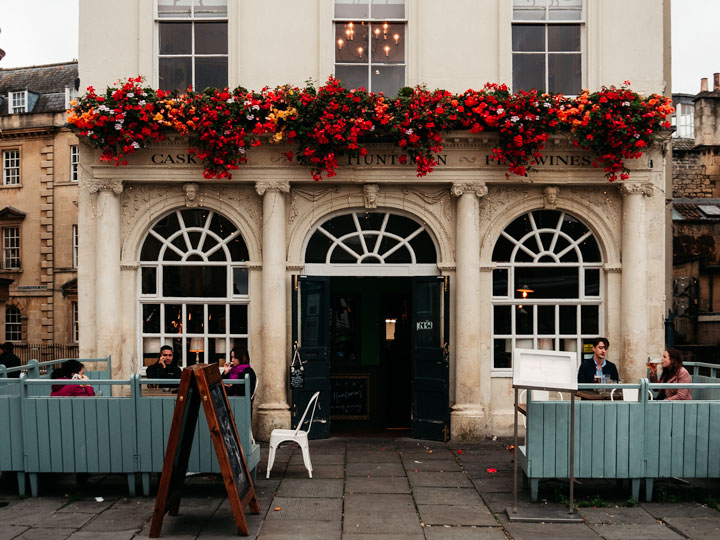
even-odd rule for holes
{"type": "Polygon", "coordinates": [[[200,403],[210,428],[238,533],[248,535],[250,532],[243,511],[245,506],[249,505],[253,514],[260,513],[217,364],[195,364],[184,369],[180,379],[160,487],[153,508],[150,538],[160,536],[165,512],[171,516],[178,513],[200,403]]]}

